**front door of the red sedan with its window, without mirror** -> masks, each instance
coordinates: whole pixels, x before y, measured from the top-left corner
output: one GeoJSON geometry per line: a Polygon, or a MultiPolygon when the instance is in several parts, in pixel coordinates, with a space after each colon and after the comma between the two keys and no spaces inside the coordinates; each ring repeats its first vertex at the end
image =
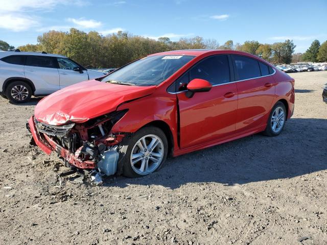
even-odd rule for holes
{"type": "Polygon", "coordinates": [[[181,149],[235,132],[238,94],[230,64],[228,55],[207,57],[177,80],[181,149]],[[207,80],[213,87],[188,98],[186,85],[195,78],[207,80]]]}

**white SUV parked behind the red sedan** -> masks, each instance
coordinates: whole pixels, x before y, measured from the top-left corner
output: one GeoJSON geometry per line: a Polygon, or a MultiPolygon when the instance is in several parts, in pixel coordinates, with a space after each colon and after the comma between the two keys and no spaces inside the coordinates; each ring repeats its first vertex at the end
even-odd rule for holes
{"type": "Polygon", "coordinates": [[[17,51],[0,51],[0,95],[13,103],[105,75],[61,55],[17,51]]]}

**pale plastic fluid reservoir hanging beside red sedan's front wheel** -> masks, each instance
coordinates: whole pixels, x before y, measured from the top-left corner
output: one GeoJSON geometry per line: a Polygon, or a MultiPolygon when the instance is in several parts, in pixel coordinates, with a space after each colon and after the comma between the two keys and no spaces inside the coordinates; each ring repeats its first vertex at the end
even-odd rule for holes
{"type": "Polygon", "coordinates": [[[113,146],[105,151],[101,155],[101,160],[98,162],[97,166],[101,173],[109,176],[114,175],[117,171],[117,162],[119,159],[119,153],[117,152],[118,146],[113,146]]]}

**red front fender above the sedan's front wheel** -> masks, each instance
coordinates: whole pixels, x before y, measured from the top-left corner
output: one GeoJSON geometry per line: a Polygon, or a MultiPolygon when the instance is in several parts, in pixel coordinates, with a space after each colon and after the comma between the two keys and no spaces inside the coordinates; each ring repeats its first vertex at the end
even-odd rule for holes
{"type": "Polygon", "coordinates": [[[112,127],[112,133],[135,133],[152,121],[164,121],[171,130],[174,151],[178,149],[176,94],[167,93],[162,89],[160,94],[156,93],[156,95],[143,97],[142,100],[124,103],[117,108],[117,110],[124,109],[128,109],[128,112],[112,127]]]}

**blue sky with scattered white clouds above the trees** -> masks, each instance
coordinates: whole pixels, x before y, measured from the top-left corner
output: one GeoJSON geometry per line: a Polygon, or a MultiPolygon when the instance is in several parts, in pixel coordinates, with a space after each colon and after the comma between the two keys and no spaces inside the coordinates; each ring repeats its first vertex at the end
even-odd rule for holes
{"type": "Polygon", "coordinates": [[[293,39],[295,51],[305,52],[314,39],[327,40],[326,23],[326,0],[0,0],[0,40],[14,46],[37,43],[49,30],[75,27],[171,40],[201,36],[220,44],[293,39]]]}

